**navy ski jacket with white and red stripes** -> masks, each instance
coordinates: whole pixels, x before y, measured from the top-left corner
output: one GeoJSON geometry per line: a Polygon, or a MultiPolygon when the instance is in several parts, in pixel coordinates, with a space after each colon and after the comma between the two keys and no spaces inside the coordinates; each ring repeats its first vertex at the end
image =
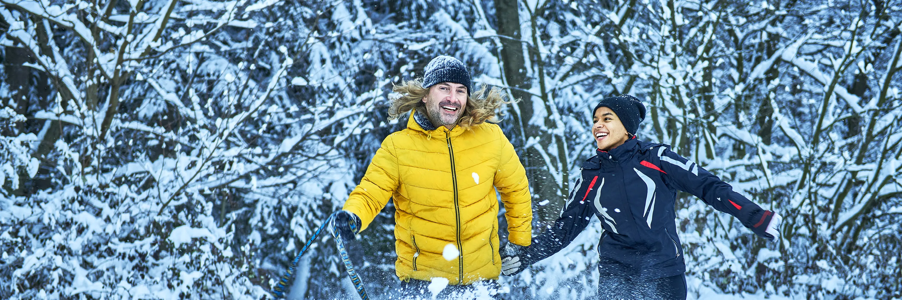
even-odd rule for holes
{"type": "Polygon", "coordinates": [[[701,198],[732,214],[756,234],[764,232],[772,212],[669,146],[631,139],[610,151],[596,150],[586,159],[560,218],[520,256],[528,265],[563,249],[582,232],[594,214],[602,222],[599,270],[658,278],[683,274],[686,264],[676,235],[676,191],[701,198]]]}

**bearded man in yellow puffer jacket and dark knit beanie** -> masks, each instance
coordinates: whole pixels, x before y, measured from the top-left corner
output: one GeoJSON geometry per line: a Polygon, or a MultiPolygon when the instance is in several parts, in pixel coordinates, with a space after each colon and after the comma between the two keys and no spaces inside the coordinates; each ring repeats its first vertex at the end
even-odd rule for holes
{"type": "Polygon", "coordinates": [[[472,295],[477,286],[497,287],[502,261],[496,190],[509,241],[531,241],[526,172],[501,128],[485,123],[505,103],[503,95],[484,86],[473,95],[471,90],[469,71],[447,56],[432,59],[422,79],[395,86],[400,97],[389,114],[410,114],[407,128],[382,141],[336,219],[350,235],[356,233],[350,223],[366,229],[394,200],[395,273],[402,296],[431,297],[430,281],[437,284],[433,288],[447,284],[440,296],[455,298],[472,295]]]}

